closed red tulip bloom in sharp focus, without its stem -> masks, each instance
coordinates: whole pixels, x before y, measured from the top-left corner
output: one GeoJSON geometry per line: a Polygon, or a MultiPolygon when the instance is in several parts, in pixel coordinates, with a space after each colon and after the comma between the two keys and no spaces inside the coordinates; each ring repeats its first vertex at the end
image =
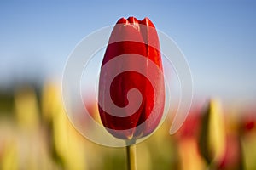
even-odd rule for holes
{"type": "Polygon", "coordinates": [[[165,105],[162,71],[160,42],[154,24],[148,18],[121,18],[113,27],[102,60],[98,95],[102,124],[114,137],[138,139],[158,126],[165,105]],[[108,62],[113,64],[103,68],[108,62]],[[137,97],[132,97],[137,94],[134,88],[140,92],[137,97]],[[109,94],[111,99],[106,97],[109,94]],[[115,110],[110,102],[120,110],[115,110]]]}

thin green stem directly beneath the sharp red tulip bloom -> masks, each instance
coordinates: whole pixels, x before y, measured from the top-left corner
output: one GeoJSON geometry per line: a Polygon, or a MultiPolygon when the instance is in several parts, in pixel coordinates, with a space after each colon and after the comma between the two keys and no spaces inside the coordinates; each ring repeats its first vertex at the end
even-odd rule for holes
{"type": "Polygon", "coordinates": [[[136,144],[126,146],[127,169],[136,170],[136,144]]]}

